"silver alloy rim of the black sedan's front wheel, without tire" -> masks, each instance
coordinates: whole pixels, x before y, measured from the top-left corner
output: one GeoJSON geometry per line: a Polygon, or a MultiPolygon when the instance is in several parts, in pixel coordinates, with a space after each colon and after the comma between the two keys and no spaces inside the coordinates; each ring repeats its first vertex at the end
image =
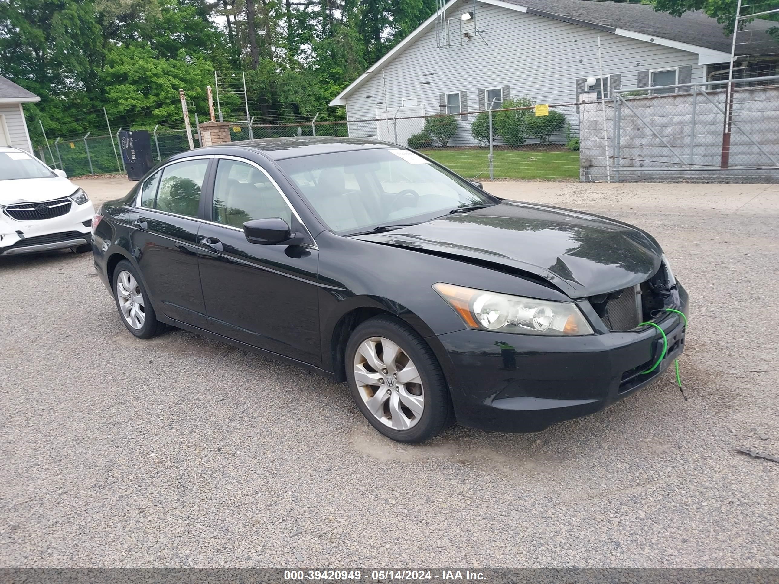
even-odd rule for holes
{"type": "Polygon", "coordinates": [[[425,390],[411,358],[382,336],[365,339],[354,354],[354,381],[368,411],[394,430],[414,427],[425,411],[425,390]]]}

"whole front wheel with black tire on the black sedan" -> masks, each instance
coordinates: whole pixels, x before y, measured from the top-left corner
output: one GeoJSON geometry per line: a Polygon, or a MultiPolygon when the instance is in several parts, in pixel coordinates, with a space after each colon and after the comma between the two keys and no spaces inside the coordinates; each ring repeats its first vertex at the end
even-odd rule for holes
{"type": "Polygon", "coordinates": [[[387,438],[425,442],[452,424],[452,399],[435,354],[399,319],[378,316],[358,325],[344,364],[354,403],[387,438]]]}

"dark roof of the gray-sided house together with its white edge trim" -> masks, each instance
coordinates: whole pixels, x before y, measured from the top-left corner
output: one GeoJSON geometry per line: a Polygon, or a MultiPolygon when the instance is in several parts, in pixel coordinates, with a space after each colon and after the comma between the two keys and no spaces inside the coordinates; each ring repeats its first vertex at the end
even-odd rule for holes
{"type": "MultiPolygon", "coordinates": [[[[444,10],[449,12],[460,0],[449,0],[444,10]]],[[[502,6],[517,12],[530,12],[567,23],[604,30],[622,37],[689,51],[698,55],[698,64],[730,61],[732,38],[725,34],[716,19],[703,12],[685,12],[682,16],[671,16],[665,12],[654,12],[652,5],[632,2],[600,2],[599,0],[479,0],[483,4],[502,6]]],[[[346,97],[365,83],[374,72],[381,71],[393,58],[400,55],[414,39],[425,33],[438,16],[421,23],[404,40],[375,62],[368,70],[354,80],[345,90],[330,102],[330,105],[346,104],[346,97]]],[[[749,32],[740,33],[736,55],[779,55],[779,41],[767,30],[776,23],[756,19],[747,25],[749,32]]]]}

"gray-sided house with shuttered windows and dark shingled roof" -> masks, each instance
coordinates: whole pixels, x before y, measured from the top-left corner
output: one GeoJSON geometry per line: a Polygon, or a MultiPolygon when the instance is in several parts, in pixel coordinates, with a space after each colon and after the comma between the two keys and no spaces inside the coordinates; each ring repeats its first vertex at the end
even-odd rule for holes
{"type": "MultiPolygon", "coordinates": [[[[601,87],[608,96],[614,89],[717,80],[723,71],[727,78],[731,38],[702,12],[675,17],[651,5],[594,0],[450,0],[444,9],[444,18],[439,13],[422,23],[330,105],[345,105],[348,121],[458,114],[450,144],[466,145],[473,143],[468,120],[493,98],[495,108],[523,96],[554,106],[578,102],[587,90],[600,97],[601,87]],[[588,78],[596,84],[586,86],[588,78]]],[[[756,32],[739,37],[737,76],[775,74],[777,43],[765,32],[772,25],[756,20],[750,23],[756,32]],[[761,56],[767,53],[774,61],[761,56]]],[[[571,111],[566,115],[575,124],[571,111]]],[[[397,142],[422,124],[399,122],[397,142]]],[[[354,137],[393,139],[384,121],[348,127],[354,137]]]]}

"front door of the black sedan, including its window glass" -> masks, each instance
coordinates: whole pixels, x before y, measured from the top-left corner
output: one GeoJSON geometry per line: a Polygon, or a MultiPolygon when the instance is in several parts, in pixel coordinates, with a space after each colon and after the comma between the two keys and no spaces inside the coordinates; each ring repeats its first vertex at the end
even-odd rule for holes
{"type": "Polygon", "coordinates": [[[321,364],[316,273],[319,250],[276,181],[259,164],[219,157],[198,234],[200,283],[213,332],[321,364]],[[210,213],[210,216],[209,216],[210,213]],[[307,244],[259,245],[243,223],[280,217],[307,244]],[[210,220],[208,220],[210,218],[210,220]]]}

